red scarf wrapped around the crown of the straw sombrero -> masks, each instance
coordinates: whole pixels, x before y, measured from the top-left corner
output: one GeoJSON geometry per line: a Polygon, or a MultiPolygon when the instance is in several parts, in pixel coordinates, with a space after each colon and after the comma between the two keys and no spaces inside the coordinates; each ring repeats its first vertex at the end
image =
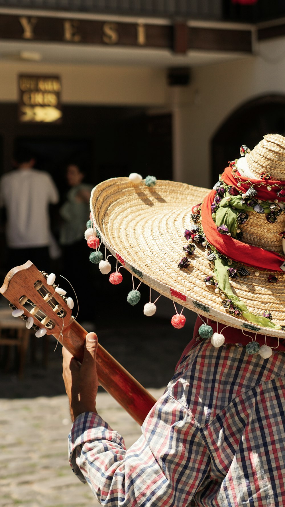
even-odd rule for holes
{"type": "MultiPolygon", "coordinates": [[[[261,182],[259,179],[249,179],[240,176],[238,173],[234,173],[238,175],[238,180],[241,183],[241,186],[238,187],[239,191],[246,193],[247,190],[253,186],[258,187],[258,197],[260,200],[274,200],[277,199],[277,192],[280,188],[285,186],[285,182],[279,182],[277,180],[269,180],[268,184],[265,182],[261,182]],[[271,190],[267,190],[267,186],[272,186],[271,190]]],[[[234,176],[230,167],[225,169],[225,172],[222,174],[222,179],[226,185],[231,185],[236,187],[237,178],[234,176]]],[[[232,238],[231,236],[227,236],[226,234],[220,234],[217,231],[217,226],[212,219],[212,209],[211,204],[214,201],[216,195],[216,190],[210,192],[210,194],[204,199],[201,205],[201,223],[202,228],[205,233],[205,236],[210,244],[215,246],[219,253],[232,259],[233,261],[240,262],[242,264],[246,264],[247,266],[252,266],[258,269],[267,269],[269,271],[279,271],[283,272],[280,268],[281,264],[284,262],[284,258],[276,252],[264,250],[259,246],[248,245],[247,243],[242,243],[242,241],[238,241],[237,239],[232,238]]]]}

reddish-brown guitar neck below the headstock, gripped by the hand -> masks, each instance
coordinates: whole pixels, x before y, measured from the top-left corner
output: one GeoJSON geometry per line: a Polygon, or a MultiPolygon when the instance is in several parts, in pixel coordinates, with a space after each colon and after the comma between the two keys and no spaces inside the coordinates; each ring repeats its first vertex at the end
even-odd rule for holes
{"type": "MultiPolygon", "coordinates": [[[[75,320],[56,339],[82,363],[87,331],[75,320]]],[[[101,386],[137,421],[143,423],[155,404],[153,396],[114,359],[100,343],[96,355],[98,380],[101,386]]]]}

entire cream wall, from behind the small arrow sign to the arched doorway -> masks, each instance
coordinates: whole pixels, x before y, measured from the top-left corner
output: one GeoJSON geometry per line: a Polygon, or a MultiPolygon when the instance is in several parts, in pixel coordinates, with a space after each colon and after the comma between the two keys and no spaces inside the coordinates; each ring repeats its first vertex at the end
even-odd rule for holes
{"type": "Polygon", "coordinates": [[[193,67],[187,87],[168,87],[164,68],[2,60],[0,100],[17,101],[17,76],[28,73],[59,74],[63,103],[142,105],[150,112],[172,111],[174,179],[206,187],[211,180],[211,138],[220,125],[251,99],[285,94],[285,38],[258,44],[256,56],[193,67]]]}

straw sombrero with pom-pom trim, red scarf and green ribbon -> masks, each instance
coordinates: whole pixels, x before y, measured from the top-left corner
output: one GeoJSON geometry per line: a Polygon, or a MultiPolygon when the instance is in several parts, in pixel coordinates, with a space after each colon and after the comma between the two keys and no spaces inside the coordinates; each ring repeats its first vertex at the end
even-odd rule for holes
{"type": "MultiPolygon", "coordinates": [[[[95,247],[90,257],[110,272],[100,241],[117,266],[175,304],[284,339],[285,138],[265,135],[253,151],[240,150],[213,190],[136,174],[97,185],[86,232],[95,247]]],[[[112,283],[120,280],[118,269],[112,283]]],[[[128,295],[131,304],[138,302],[139,282],[128,295]]],[[[145,303],[145,313],[153,314],[153,302],[145,303]]],[[[172,321],[178,328],[179,311],[172,321]]]]}

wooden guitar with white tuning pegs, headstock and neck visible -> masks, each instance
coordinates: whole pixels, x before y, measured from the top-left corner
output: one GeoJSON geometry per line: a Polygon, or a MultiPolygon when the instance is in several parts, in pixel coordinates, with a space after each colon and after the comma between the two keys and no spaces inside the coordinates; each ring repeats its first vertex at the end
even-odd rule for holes
{"type": "MultiPolygon", "coordinates": [[[[27,261],[9,271],[0,293],[8,299],[12,310],[18,310],[18,313],[23,310],[21,317],[26,320],[27,326],[31,325],[39,336],[53,335],[82,363],[87,331],[71,315],[71,298],[58,294],[58,286],[50,284],[47,278],[47,273],[38,271],[27,261]]],[[[142,424],[156,402],[154,397],[100,344],[96,366],[101,386],[135,421],[142,424]]]]}

